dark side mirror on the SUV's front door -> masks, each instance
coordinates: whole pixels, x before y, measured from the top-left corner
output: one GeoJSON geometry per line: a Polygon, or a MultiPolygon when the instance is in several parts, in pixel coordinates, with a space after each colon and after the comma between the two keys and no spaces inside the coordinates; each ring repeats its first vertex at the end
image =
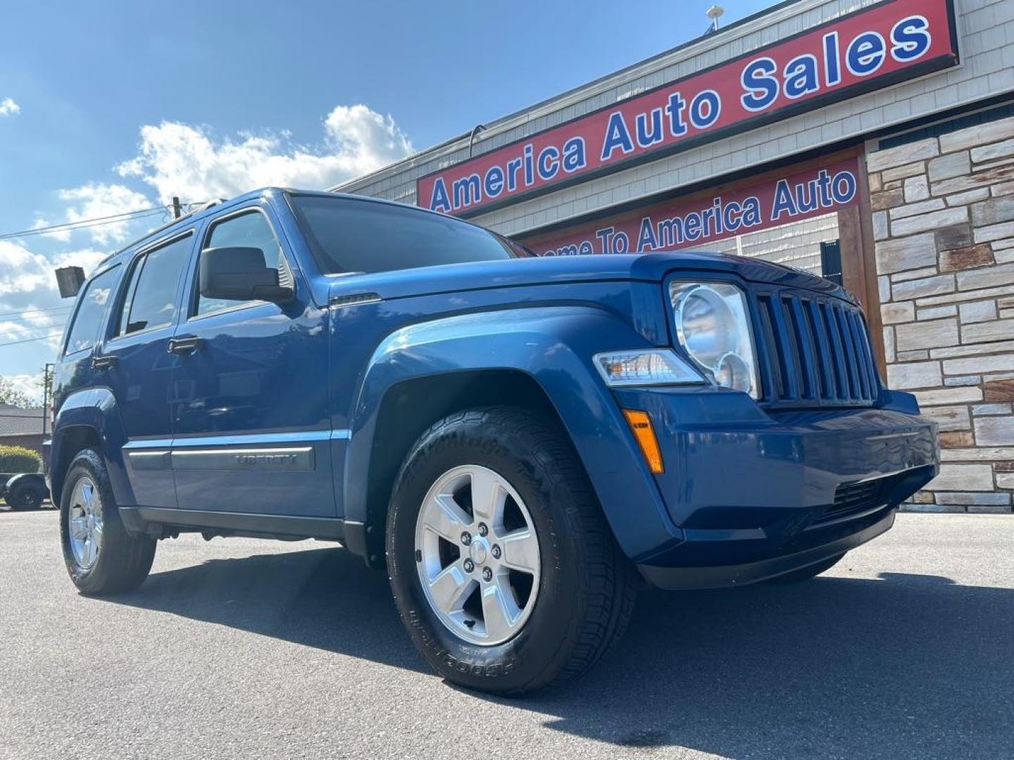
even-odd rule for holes
{"type": "Polygon", "coordinates": [[[278,270],[265,265],[260,248],[205,248],[199,283],[205,298],[275,303],[292,298],[292,289],[278,284],[278,270]]]}

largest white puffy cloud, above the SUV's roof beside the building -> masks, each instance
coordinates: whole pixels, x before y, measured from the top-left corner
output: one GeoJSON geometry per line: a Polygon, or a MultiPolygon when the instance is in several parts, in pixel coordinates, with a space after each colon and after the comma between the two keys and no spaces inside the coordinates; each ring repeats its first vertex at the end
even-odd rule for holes
{"type": "Polygon", "coordinates": [[[208,130],[176,122],[141,128],[138,155],[117,167],[158,193],[195,203],[266,185],[323,189],[412,153],[412,143],[388,116],[366,105],[339,105],[323,121],[319,145],[292,142],[289,133],[216,141],[208,130]]]}

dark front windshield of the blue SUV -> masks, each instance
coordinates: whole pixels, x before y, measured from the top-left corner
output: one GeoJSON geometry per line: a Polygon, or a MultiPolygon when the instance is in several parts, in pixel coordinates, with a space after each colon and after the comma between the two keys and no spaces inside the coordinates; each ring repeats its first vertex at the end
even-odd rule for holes
{"type": "Polygon", "coordinates": [[[289,198],[321,270],[329,275],[531,255],[494,232],[428,211],[365,199],[289,198]]]}

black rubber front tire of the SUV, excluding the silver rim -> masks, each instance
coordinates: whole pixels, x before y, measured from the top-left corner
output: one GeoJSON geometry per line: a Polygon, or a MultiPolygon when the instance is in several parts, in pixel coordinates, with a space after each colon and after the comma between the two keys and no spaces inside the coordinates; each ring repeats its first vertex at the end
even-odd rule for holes
{"type": "Polygon", "coordinates": [[[623,634],[635,571],[617,545],[570,442],[526,409],[460,411],[426,431],[409,453],[387,515],[387,568],[402,621],[444,678],[466,688],[521,694],[588,670],[623,634]],[[538,595],[520,630],[477,645],[445,626],[416,568],[416,522],[430,486],[460,465],[504,477],[527,506],[540,554],[538,595]]]}

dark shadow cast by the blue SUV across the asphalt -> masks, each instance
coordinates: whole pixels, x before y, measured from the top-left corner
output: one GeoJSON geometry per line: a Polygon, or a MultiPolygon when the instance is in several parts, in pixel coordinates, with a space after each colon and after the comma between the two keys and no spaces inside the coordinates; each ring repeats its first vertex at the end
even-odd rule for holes
{"type": "MultiPolygon", "coordinates": [[[[341,549],[157,573],[117,602],[426,671],[386,579],[341,549]]],[[[1014,592],[883,574],[646,590],[579,684],[504,702],[619,748],[733,758],[1010,757],[1014,592]]]]}

